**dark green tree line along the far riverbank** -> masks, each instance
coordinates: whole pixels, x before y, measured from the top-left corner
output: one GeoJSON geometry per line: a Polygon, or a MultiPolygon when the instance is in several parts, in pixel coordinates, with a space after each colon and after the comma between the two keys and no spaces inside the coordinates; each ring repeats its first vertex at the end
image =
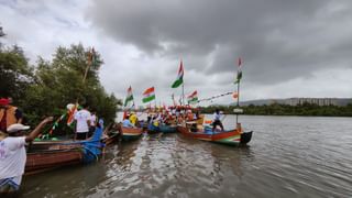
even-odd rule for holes
{"type": "MultiPolygon", "coordinates": [[[[224,113],[233,113],[234,106],[210,106],[201,107],[205,113],[212,113],[216,109],[220,109],[224,113]]],[[[258,116],[321,116],[321,117],[352,117],[352,103],[345,107],[339,106],[318,106],[304,103],[298,106],[288,106],[273,103],[270,106],[245,106],[241,107],[243,114],[258,116]]]]}

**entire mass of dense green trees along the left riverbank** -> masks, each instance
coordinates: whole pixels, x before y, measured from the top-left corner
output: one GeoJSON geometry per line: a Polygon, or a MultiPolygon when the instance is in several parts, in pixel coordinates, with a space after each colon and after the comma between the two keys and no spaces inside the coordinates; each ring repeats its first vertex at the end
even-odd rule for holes
{"type": "Polygon", "coordinates": [[[82,80],[88,62],[88,50],[81,44],[58,47],[52,61],[38,58],[30,66],[18,47],[0,51],[0,97],[12,97],[13,105],[24,112],[25,122],[35,125],[44,116],[59,117],[68,103],[87,103],[106,121],[113,121],[118,100],[108,95],[98,78],[102,61],[89,67],[86,81],[82,80]]]}

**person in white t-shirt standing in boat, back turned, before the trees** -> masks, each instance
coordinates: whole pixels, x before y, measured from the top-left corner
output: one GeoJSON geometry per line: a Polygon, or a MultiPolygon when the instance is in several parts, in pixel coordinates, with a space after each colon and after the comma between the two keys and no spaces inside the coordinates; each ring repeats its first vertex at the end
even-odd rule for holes
{"type": "Polygon", "coordinates": [[[75,140],[88,139],[88,132],[90,127],[90,112],[88,111],[87,103],[82,106],[82,109],[80,109],[75,113],[75,121],[76,121],[75,140]]]}

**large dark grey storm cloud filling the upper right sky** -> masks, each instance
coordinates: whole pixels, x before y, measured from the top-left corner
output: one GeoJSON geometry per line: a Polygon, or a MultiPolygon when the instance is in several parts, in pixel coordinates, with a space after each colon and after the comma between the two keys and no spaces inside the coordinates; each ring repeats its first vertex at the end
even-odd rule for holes
{"type": "Polygon", "coordinates": [[[208,75],[233,73],[237,57],[242,56],[251,81],[272,84],[309,76],[331,64],[346,66],[351,3],[97,0],[86,15],[118,42],[152,56],[185,57],[188,69],[208,75]]]}

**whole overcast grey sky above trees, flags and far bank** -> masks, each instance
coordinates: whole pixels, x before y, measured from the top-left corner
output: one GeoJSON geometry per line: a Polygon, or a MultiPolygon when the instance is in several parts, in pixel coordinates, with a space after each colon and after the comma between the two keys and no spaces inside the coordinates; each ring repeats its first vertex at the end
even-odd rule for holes
{"type": "Polygon", "coordinates": [[[238,57],[241,100],[352,97],[351,0],[0,0],[0,25],[32,63],[95,46],[107,91],[123,98],[131,85],[138,103],[151,86],[157,102],[182,94],[170,89],[180,59],[186,94],[232,91],[238,57]]]}

